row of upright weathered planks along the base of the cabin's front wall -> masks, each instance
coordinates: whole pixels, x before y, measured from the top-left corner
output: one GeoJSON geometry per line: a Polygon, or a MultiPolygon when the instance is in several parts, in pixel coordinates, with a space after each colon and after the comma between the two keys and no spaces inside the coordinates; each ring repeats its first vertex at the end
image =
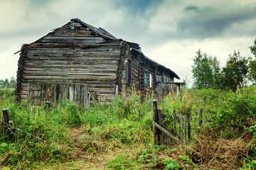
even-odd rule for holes
{"type": "Polygon", "coordinates": [[[90,86],[85,84],[30,84],[28,83],[28,100],[57,103],[59,99],[68,99],[80,108],[90,106],[92,99],[90,86]]]}

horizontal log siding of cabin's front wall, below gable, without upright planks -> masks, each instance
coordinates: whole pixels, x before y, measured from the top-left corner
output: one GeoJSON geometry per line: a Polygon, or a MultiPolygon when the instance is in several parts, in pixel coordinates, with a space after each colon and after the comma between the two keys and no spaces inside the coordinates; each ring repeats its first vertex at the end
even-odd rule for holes
{"type": "Polygon", "coordinates": [[[34,45],[22,47],[17,74],[18,81],[22,82],[17,86],[18,99],[28,94],[23,84],[42,83],[87,84],[92,94],[97,94],[98,101],[112,101],[120,59],[119,40],[95,45],[34,45]]]}

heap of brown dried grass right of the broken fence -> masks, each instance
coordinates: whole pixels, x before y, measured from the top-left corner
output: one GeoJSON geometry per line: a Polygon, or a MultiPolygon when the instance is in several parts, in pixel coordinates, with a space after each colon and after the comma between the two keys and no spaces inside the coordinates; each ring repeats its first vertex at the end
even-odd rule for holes
{"type": "Polygon", "coordinates": [[[248,143],[252,135],[247,132],[237,139],[224,139],[213,129],[196,137],[196,144],[186,147],[186,153],[200,169],[238,169],[252,150],[248,143]]]}

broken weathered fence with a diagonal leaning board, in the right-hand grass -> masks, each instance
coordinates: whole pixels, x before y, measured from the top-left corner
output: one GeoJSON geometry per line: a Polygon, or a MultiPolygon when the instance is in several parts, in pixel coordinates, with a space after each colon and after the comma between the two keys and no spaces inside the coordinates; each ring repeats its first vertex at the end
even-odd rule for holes
{"type": "MultiPolygon", "coordinates": [[[[152,101],[154,142],[157,145],[172,145],[174,142],[186,145],[191,140],[191,113],[164,114],[152,101]],[[177,130],[178,128],[178,130],[177,130]]],[[[203,125],[203,109],[198,113],[198,132],[203,125]]]]}

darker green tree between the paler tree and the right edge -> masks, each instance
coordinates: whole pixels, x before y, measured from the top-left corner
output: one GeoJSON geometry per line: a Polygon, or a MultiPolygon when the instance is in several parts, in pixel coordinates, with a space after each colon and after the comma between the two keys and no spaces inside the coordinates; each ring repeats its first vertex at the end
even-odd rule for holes
{"type": "Polygon", "coordinates": [[[229,55],[228,62],[219,77],[220,89],[235,91],[238,86],[242,87],[249,71],[248,61],[240,56],[240,52],[234,51],[233,55],[229,55]]]}

